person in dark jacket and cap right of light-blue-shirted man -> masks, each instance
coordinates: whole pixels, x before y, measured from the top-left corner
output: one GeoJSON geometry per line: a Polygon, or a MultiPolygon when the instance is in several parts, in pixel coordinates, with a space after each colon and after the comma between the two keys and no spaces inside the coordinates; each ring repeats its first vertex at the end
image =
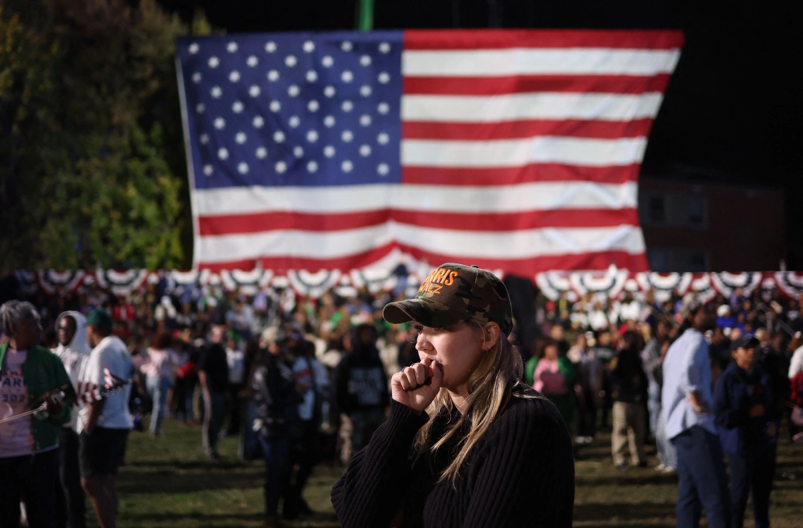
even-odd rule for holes
{"type": "Polygon", "coordinates": [[[744,524],[752,491],[756,528],[769,526],[769,493],[775,472],[777,426],[772,420],[769,374],[756,364],[758,339],[744,336],[731,345],[734,361],[716,380],[714,420],[731,469],[734,528],[744,524]]]}

